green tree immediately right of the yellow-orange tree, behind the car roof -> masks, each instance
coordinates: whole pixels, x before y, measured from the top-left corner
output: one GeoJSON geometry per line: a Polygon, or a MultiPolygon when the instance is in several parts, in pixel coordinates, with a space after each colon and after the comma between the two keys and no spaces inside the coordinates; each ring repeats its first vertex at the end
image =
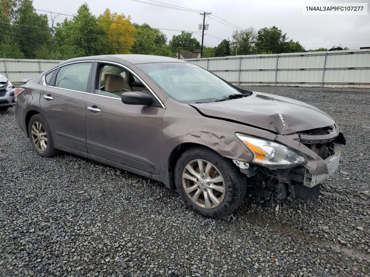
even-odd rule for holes
{"type": "Polygon", "coordinates": [[[148,54],[171,56],[172,51],[166,45],[167,37],[158,29],[151,28],[149,24],[134,24],[135,42],[132,47],[132,54],[148,54]]]}

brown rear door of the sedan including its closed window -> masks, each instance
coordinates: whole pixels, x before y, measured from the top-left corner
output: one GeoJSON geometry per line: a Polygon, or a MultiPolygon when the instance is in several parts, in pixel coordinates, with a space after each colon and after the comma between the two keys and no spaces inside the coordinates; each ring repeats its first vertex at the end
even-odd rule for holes
{"type": "Polygon", "coordinates": [[[91,62],[55,69],[45,76],[46,87],[40,98],[41,111],[57,143],[84,152],[87,152],[85,100],[90,90],[91,71],[91,62]]]}

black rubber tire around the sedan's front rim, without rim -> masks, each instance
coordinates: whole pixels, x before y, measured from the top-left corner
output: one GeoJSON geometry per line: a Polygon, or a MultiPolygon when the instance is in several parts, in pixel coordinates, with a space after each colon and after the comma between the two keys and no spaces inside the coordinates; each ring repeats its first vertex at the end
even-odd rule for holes
{"type": "Polygon", "coordinates": [[[192,211],[209,218],[222,218],[233,213],[243,202],[246,194],[246,177],[239,168],[228,158],[222,157],[215,151],[206,147],[194,147],[186,150],[177,161],[175,167],[175,184],[176,189],[192,211]],[[225,196],[215,208],[202,208],[195,204],[185,193],[182,184],[182,173],[188,163],[193,160],[205,160],[214,165],[221,173],[225,182],[225,196]]]}

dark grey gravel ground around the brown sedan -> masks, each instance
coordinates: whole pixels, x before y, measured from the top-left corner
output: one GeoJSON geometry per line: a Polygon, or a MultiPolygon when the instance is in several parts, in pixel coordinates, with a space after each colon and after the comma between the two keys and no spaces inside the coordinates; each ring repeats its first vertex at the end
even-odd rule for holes
{"type": "Polygon", "coordinates": [[[370,276],[370,90],[248,87],[310,103],[347,139],[319,199],[189,212],[163,184],[70,154],[41,158],[0,113],[0,276],[370,276]]]}

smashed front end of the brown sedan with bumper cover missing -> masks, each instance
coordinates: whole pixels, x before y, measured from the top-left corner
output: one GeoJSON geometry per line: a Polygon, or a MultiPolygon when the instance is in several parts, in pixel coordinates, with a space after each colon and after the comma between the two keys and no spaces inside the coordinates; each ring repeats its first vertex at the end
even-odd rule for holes
{"type": "MultiPolygon", "coordinates": [[[[242,141],[248,140],[248,136],[236,136],[242,141]]],[[[268,153],[267,144],[259,147],[254,141],[252,144],[249,141],[243,143],[254,153],[252,163],[238,160],[233,162],[248,178],[251,194],[265,198],[276,196],[277,199],[289,195],[293,198],[318,197],[320,183],[337,169],[341,145],[346,144],[343,134],[339,133],[335,124],[285,136],[277,135],[273,143],[286,147],[286,157],[282,151],[275,151],[273,148],[268,153]],[[272,151],[275,151],[274,157],[268,163],[261,163],[262,156],[268,157],[272,155],[272,151]],[[300,156],[305,157],[305,161],[300,156]]]]}

